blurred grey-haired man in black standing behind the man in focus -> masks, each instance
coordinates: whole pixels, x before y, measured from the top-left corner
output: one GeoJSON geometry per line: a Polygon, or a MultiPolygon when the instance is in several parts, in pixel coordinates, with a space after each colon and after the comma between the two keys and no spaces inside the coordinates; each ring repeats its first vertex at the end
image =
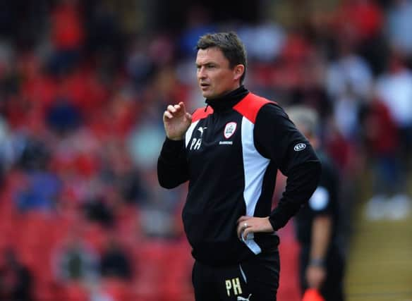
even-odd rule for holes
{"type": "Polygon", "coordinates": [[[308,204],[296,215],[301,244],[301,288],[303,292],[308,288],[319,290],[326,301],[343,301],[344,259],[337,242],[339,179],[336,168],[319,148],[316,111],[307,106],[294,106],[286,111],[315,147],[322,162],[320,183],[308,204]]]}

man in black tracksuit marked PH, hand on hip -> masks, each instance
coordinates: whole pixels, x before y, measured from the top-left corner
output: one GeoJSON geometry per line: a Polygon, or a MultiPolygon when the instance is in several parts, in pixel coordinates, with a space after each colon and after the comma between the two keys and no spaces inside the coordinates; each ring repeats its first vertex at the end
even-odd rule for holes
{"type": "Polygon", "coordinates": [[[320,161],[274,102],[243,87],[246,51],[233,32],[200,37],[198,85],[207,106],[169,105],[157,173],[164,188],[189,181],[183,225],[193,247],[195,300],[276,300],[275,231],[312,195],[320,161]],[[288,176],[271,212],[277,170],[288,176]]]}

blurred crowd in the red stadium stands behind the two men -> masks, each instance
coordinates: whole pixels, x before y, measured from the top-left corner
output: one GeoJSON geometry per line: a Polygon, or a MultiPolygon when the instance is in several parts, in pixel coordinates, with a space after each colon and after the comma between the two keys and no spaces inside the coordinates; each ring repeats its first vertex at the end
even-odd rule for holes
{"type": "Polygon", "coordinates": [[[171,27],[149,1],[1,2],[1,300],[190,300],[185,188],[156,161],[166,105],[203,105],[206,32],[243,39],[249,90],[320,113],[349,220],[361,197],[368,219],[408,214],[411,0],[257,1],[248,22],[182,1],[171,27]]]}

